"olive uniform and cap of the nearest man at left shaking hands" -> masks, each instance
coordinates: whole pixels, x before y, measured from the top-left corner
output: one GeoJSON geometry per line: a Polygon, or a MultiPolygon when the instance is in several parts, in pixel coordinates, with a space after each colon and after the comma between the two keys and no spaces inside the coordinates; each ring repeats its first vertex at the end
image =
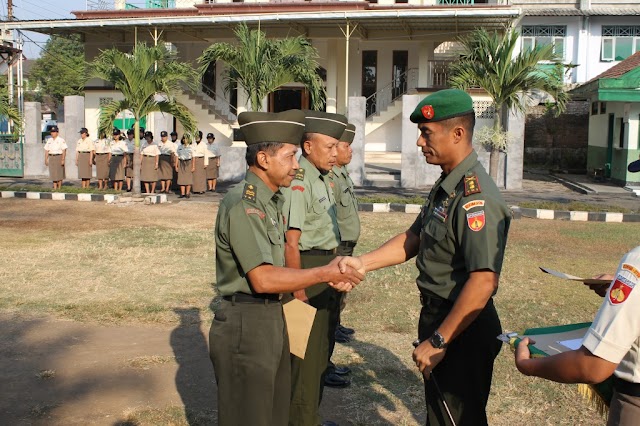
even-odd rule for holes
{"type": "MultiPolygon", "coordinates": [[[[247,145],[297,143],[304,130],[301,111],[244,113],[238,119],[247,145]]],[[[218,209],[216,286],[223,300],[211,325],[209,352],[221,426],[286,425],[289,418],[291,370],[281,295],[256,293],[247,276],[263,264],[284,266],[283,203],[279,190],[249,170],[218,209]]]]}

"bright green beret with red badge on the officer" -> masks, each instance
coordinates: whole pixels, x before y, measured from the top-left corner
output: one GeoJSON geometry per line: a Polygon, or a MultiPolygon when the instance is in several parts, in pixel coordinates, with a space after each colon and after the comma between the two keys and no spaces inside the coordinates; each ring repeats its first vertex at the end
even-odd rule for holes
{"type": "Polygon", "coordinates": [[[414,123],[433,123],[473,113],[473,101],[460,89],[445,89],[427,96],[411,113],[414,123]]]}

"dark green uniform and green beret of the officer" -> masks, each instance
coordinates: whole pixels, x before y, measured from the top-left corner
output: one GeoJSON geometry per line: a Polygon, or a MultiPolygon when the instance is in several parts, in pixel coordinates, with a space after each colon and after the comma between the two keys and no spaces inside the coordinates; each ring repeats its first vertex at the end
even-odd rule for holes
{"type": "MultiPolygon", "coordinates": [[[[470,112],[471,98],[466,93],[445,90],[425,98],[411,119],[439,121],[470,112]]],[[[471,272],[500,273],[510,221],[509,209],[475,152],[435,183],[410,228],[420,236],[416,283],[423,302],[418,325],[421,341],[444,321],[471,272]]],[[[485,408],[493,362],[501,346],[496,339],[500,333],[491,298],[473,323],[450,343],[444,359],[433,370],[458,425],[487,424],[485,408]]],[[[427,424],[448,424],[432,380],[425,382],[425,393],[427,424]]]]}

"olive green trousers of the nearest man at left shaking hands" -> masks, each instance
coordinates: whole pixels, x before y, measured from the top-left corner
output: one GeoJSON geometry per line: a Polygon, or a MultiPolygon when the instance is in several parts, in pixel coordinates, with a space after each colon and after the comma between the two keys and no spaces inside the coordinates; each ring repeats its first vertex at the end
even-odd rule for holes
{"type": "Polygon", "coordinates": [[[279,302],[223,301],[209,331],[219,426],[281,426],[289,418],[289,338],[279,302]]]}

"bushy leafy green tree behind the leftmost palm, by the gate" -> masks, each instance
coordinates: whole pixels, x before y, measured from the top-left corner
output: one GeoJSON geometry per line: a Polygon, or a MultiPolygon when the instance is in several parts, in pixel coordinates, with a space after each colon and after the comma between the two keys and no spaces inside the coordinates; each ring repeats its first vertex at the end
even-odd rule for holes
{"type": "Polygon", "coordinates": [[[79,36],[52,36],[31,69],[30,80],[40,87],[39,101],[49,96],[60,105],[65,96],[84,94],[87,63],[79,36]]]}

